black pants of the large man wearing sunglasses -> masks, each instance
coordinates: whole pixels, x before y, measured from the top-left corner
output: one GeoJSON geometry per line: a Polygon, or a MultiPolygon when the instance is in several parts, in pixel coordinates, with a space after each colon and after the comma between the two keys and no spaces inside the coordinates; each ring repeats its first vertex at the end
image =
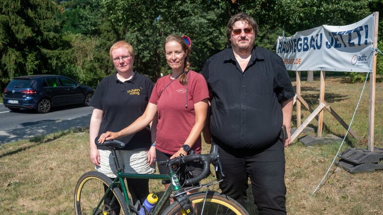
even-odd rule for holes
{"type": "Polygon", "coordinates": [[[279,139],[265,150],[219,147],[219,157],[225,174],[224,181],[219,185],[223,194],[246,208],[250,177],[259,215],[286,215],[284,146],[279,139]]]}

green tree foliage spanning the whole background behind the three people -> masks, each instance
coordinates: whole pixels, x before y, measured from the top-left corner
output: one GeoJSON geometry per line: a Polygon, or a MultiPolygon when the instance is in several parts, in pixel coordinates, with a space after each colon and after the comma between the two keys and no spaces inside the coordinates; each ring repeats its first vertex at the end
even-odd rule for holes
{"type": "MultiPolygon", "coordinates": [[[[0,5],[1,91],[15,76],[39,73],[67,75],[95,87],[114,70],[108,52],[118,40],[133,45],[134,68],[155,81],[161,74],[170,72],[162,47],[170,34],[191,38],[191,69],[200,71],[206,59],[227,46],[226,23],[241,11],[259,23],[256,44],[272,51],[282,31],[289,36],[322,24],[345,25],[374,11],[383,11],[381,0],[148,0],[145,3],[142,0],[2,0],[0,5]]],[[[383,16],[380,17],[379,38],[382,38],[383,16]]],[[[382,48],[382,43],[379,44],[382,48]]],[[[378,74],[383,74],[382,67],[382,57],[378,56],[378,74]]]]}

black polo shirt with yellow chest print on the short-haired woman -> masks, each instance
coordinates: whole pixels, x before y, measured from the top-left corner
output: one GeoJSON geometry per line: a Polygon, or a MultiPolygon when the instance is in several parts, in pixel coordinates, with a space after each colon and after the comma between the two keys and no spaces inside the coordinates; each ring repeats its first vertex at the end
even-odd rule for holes
{"type": "MultiPolygon", "coordinates": [[[[104,112],[99,135],[106,131],[120,131],[140,117],[145,112],[153,87],[154,84],[148,77],[135,71],[133,77],[125,82],[117,79],[117,72],[102,79],[89,104],[104,112]]],[[[149,126],[118,140],[126,144],[122,150],[149,149],[149,126]]],[[[101,148],[104,147],[99,147],[101,148]]]]}

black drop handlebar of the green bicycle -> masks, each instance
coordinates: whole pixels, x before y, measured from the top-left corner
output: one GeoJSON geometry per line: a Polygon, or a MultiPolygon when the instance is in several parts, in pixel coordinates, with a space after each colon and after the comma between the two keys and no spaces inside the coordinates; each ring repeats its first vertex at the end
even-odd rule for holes
{"type": "Polygon", "coordinates": [[[193,178],[188,178],[185,180],[186,185],[191,185],[191,184],[197,183],[198,181],[202,180],[206,175],[208,175],[210,171],[210,164],[213,163],[218,157],[219,157],[218,146],[212,143],[212,148],[209,154],[206,154],[206,155],[193,154],[193,155],[187,155],[187,156],[179,156],[170,160],[160,161],[159,164],[166,165],[169,167],[172,165],[185,164],[193,160],[200,160],[203,164],[202,172],[198,176],[195,176],[193,178]]]}

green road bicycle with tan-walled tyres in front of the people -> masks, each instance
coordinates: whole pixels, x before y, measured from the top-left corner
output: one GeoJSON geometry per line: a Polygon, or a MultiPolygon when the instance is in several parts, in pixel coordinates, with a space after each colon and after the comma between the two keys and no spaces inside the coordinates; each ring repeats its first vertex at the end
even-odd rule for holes
{"type": "MultiPolygon", "coordinates": [[[[97,139],[97,138],[96,138],[97,139]]],[[[96,141],[96,145],[100,145],[96,141]]],[[[145,178],[156,180],[170,180],[170,186],[159,198],[157,204],[147,215],[249,215],[249,213],[234,199],[229,196],[209,191],[209,187],[223,180],[222,167],[219,161],[218,148],[212,144],[210,154],[193,154],[179,156],[166,161],[157,162],[159,165],[169,167],[169,174],[126,174],[122,173],[116,152],[117,148],[125,146],[117,140],[105,141],[117,166],[117,177],[112,181],[106,175],[91,171],[80,177],[74,192],[74,208],[76,215],[138,215],[138,208],[134,207],[128,196],[128,189],[124,178],[145,178]],[[176,169],[187,165],[188,162],[199,160],[203,164],[203,170],[198,176],[179,181],[176,169]],[[210,164],[214,165],[216,178],[205,184],[200,180],[210,173],[210,164]],[[197,186],[195,186],[197,184],[197,186]],[[182,188],[183,185],[193,185],[191,188],[182,188]],[[206,191],[187,194],[199,188],[206,191]],[[165,207],[169,197],[175,199],[174,203],[165,207]]]]}

